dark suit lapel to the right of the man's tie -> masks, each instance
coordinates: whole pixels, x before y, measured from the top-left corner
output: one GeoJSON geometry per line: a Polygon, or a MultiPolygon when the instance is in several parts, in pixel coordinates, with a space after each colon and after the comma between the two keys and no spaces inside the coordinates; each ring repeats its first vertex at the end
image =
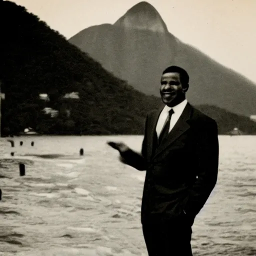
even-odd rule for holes
{"type": "MultiPolygon", "coordinates": [[[[168,147],[173,141],[175,141],[182,133],[184,133],[190,125],[188,124],[188,120],[190,119],[192,106],[187,103],[182,114],[178,118],[177,122],[167,135],[166,139],[162,141],[162,143],[156,148],[155,154],[153,157],[158,155],[160,152],[165,150],[166,147],[168,147]]],[[[158,114],[159,115],[159,114],[158,114]]],[[[156,122],[158,120],[158,116],[156,118],[156,122]]],[[[154,126],[155,129],[155,126],[154,126]]]]}

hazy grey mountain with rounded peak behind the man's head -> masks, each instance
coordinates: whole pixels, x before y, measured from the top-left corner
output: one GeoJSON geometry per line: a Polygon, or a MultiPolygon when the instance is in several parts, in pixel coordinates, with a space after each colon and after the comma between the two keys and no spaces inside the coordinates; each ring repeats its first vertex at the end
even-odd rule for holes
{"type": "Polygon", "coordinates": [[[115,76],[147,95],[159,95],[162,70],[179,65],[190,76],[188,100],[243,115],[256,113],[254,83],[183,43],[147,2],[131,7],[114,24],[85,28],[69,42],[115,76]]]}

